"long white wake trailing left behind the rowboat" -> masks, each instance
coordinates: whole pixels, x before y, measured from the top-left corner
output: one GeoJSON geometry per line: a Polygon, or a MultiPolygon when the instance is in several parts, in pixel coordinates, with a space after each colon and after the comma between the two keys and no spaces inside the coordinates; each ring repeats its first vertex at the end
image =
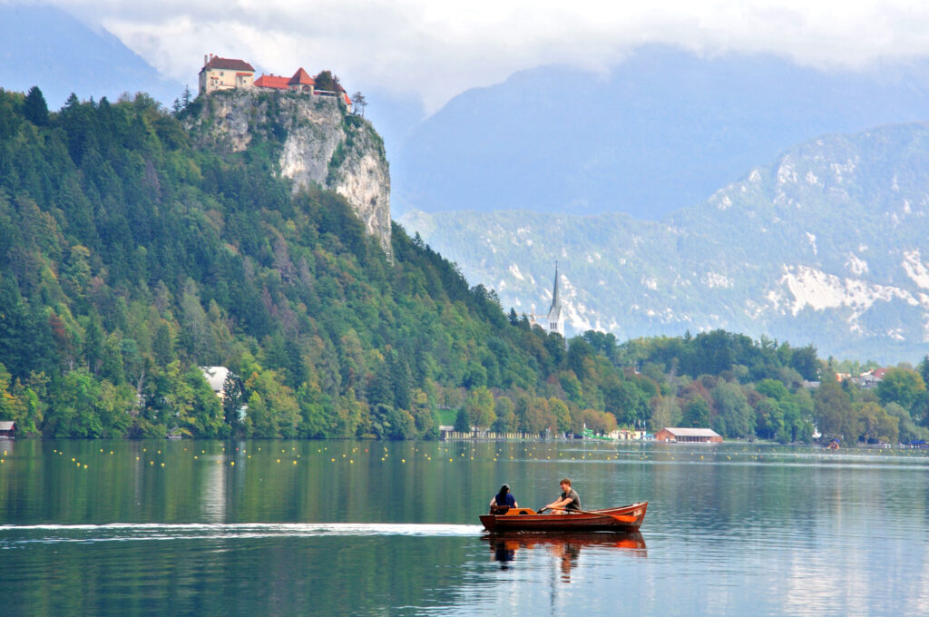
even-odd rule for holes
{"type": "Polygon", "coordinates": [[[109,523],[0,525],[0,549],[23,544],[321,536],[473,536],[479,525],[390,523],[109,523]]]}

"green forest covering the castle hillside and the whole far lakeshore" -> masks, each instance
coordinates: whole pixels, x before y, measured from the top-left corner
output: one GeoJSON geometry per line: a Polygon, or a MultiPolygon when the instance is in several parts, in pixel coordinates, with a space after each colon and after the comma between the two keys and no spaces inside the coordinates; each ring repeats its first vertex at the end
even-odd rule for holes
{"type": "Polygon", "coordinates": [[[418,234],[394,224],[388,259],[342,197],[294,193],[280,131],[212,151],[188,112],[0,90],[0,420],[18,437],[929,435],[929,358],[859,387],[836,374],[873,365],[722,330],[565,341],[418,234]],[[241,387],[217,397],[203,366],[241,387]]]}

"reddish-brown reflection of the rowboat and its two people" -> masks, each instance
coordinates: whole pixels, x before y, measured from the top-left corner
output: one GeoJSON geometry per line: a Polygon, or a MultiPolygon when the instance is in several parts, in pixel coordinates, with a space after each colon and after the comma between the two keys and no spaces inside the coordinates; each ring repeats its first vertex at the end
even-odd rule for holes
{"type": "Polygon", "coordinates": [[[501,570],[509,570],[518,554],[529,554],[539,550],[556,558],[561,571],[561,580],[570,583],[571,569],[577,566],[581,551],[618,551],[636,558],[648,557],[645,538],[640,532],[632,533],[488,533],[483,536],[490,545],[493,560],[500,563],[501,570]]]}

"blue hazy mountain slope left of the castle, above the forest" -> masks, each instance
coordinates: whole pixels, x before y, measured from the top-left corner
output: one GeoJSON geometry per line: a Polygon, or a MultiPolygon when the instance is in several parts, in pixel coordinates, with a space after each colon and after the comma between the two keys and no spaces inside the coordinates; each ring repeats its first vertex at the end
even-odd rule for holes
{"type": "MultiPolygon", "coordinates": [[[[191,87],[196,94],[195,75],[191,87]]],[[[38,85],[51,109],[81,99],[147,92],[164,105],[184,85],[162,76],[106,30],[94,32],[56,7],[0,4],[0,87],[38,85]]]]}

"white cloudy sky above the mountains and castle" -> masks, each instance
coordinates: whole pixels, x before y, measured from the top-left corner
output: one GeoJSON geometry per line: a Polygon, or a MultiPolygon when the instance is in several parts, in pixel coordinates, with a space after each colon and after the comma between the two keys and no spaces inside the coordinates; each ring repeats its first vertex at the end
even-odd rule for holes
{"type": "Polygon", "coordinates": [[[767,51],[857,67],[929,56],[919,0],[50,0],[195,85],[203,54],[268,72],[331,69],[350,91],[412,92],[435,111],[469,87],[567,63],[603,70],[641,43],[767,51]]]}

